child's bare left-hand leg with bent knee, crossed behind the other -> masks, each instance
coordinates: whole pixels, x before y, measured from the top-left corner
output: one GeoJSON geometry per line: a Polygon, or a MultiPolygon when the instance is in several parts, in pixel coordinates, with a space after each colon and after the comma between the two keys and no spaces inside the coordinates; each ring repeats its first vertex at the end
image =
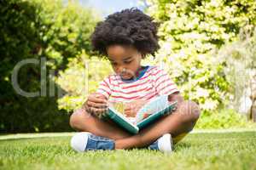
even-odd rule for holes
{"type": "Polygon", "coordinates": [[[126,133],[112,122],[102,121],[96,116],[90,115],[84,109],[73,112],[70,116],[70,126],[81,132],[90,132],[114,140],[131,136],[130,133],[126,133]]]}

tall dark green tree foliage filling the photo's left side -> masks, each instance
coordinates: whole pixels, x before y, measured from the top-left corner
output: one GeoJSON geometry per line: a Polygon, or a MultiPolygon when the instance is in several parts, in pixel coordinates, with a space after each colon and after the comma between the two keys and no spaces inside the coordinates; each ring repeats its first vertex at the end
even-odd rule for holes
{"type": "MultiPolygon", "coordinates": [[[[89,9],[73,1],[66,5],[61,0],[0,2],[1,132],[70,130],[66,111],[58,110],[58,96],[48,96],[48,91],[35,98],[21,96],[12,86],[11,75],[22,59],[40,61],[44,57],[47,70],[54,69],[56,76],[67,68],[68,59],[83,49],[90,50],[89,36],[96,20],[89,9]]],[[[26,92],[40,92],[40,78],[40,65],[25,65],[18,82],[26,92]]],[[[50,82],[44,87],[47,90],[50,82]]]]}

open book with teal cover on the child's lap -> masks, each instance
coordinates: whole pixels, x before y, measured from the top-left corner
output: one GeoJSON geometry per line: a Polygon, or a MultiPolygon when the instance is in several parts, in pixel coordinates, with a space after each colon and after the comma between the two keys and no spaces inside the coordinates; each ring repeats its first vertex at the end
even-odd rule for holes
{"type": "Polygon", "coordinates": [[[176,109],[177,101],[170,103],[168,95],[162,95],[155,99],[149,100],[148,103],[137,112],[136,117],[126,117],[117,111],[113,106],[108,107],[104,114],[105,118],[110,118],[120,127],[123,127],[130,133],[138,133],[140,129],[155,122],[161,116],[170,114],[176,109]]]}

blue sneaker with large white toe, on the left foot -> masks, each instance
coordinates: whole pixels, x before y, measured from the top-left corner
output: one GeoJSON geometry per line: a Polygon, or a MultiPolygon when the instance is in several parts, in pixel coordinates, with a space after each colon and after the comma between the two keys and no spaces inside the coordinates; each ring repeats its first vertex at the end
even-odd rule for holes
{"type": "Polygon", "coordinates": [[[78,152],[86,150],[113,150],[114,141],[112,139],[96,136],[92,133],[76,133],[71,139],[71,147],[78,152]]]}

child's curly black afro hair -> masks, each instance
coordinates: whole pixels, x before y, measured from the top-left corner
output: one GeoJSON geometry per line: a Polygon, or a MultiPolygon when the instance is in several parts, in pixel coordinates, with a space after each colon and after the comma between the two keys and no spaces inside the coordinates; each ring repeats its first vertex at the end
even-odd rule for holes
{"type": "Polygon", "coordinates": [[[94,51],[100,56],[107,56],[110,45],[131,45],[143,54],[152,54],[160,48],[157,29],[159,23],[137,8],[127,8],[108,15],[107,19],[98,22],[91,35],[94,51]]]}

